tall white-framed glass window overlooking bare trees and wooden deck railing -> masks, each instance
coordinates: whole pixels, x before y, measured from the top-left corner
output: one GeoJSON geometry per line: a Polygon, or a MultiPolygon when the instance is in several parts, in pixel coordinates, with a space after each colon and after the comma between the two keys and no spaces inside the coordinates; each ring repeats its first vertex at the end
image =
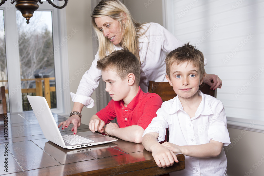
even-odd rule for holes
{"type": "Polygon", "coordinates": [[[39,4],[29,24],[15,4],[6,2],[0,7],[0,84],[6,84],[10,112],[31,110],[25,102],[30,94],[45,96],[55,113],[68,113],[70,102],[64,101],[69,99],[67,43],[62,40],[67,36],[65,21],[65,9],[48,2],[39,4]]]}

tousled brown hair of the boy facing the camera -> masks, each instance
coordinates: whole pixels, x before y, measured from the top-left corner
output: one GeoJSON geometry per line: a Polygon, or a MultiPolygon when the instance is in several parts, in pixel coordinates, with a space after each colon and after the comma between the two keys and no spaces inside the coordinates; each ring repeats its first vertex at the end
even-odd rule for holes
{"type": "Polygon", "coordinates": [[[182,47],[178,47],[177,49],[171,51],[165,59],[166,64],[166,75],[170,77],[170,68],[171,65],[176,63],[181,64],[183,62],[192,63],[196,68],[200,69],[201,75],[200,80],[203,78],[205,74],[204,69],[204,55],[201,51],[197,50],[195,46],[189,44],[189,42],[182,47]]]}

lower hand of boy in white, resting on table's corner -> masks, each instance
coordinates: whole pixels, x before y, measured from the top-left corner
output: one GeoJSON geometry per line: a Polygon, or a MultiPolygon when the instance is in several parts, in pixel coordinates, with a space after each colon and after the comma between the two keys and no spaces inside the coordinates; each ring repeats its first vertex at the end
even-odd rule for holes
{"type": "Polygon", "coordinates": [[[164,148],[160,144],[153,148],[152,156],[158,167],[166,168],[172,166],[174,161],[176,163],[179,162],[177,156],[171,150],[164,148]]]}

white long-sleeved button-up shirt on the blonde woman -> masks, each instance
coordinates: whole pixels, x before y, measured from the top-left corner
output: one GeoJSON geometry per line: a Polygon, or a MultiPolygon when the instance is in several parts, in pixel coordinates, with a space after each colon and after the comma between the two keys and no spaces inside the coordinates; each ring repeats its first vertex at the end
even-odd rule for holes
{"type": "MultiPolygon", "coordinates": [[[[164,60],[166,53],[180,47],[183,42],[179,41],[174,35],[168,30],[159,25],[158,23],[146,23],[142,25],[146,33],[138,37],[139,41],[139,56],[141,62],[140,72],[140,87],[143,92],[148,91],[148,82],[167,82],[166,65],[164,60]]],[[[142,33],[140,31],[140,33],[142,33]]],[[[121,50],[120,46],[115,46],[114,50],[121,50]]],[[[94,92],[95,88],[98,87],[99,80],[101,78],[101,70],[96,68],[98,52],[95,55],[92,65],[87,70],[78,86],[76,94],[70,93],[73,102],[80,102],[88,108],[94,106],[94,101],[90,97],[94,92]]],[[[207,64],[206,59],[204,65],[207,64]]]]}

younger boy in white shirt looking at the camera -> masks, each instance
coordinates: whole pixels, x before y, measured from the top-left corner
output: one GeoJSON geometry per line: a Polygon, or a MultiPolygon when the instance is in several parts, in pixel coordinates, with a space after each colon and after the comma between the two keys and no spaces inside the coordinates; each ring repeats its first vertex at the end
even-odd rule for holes
{"type": "Polygon", "coordinates": [[[145,129],[145,149],[163,168],[178,162],[173,152],[184,154],[185,169],[175,175],[226,175],[223,146],[230,138],[224,106],[198,90],[205,75],[203,54],[188,43],[171,51],[165,63],[166,78],[177,96],[162,104],[145,129]],[[159,144],[167,128],[169,142],[159,144]]]}

